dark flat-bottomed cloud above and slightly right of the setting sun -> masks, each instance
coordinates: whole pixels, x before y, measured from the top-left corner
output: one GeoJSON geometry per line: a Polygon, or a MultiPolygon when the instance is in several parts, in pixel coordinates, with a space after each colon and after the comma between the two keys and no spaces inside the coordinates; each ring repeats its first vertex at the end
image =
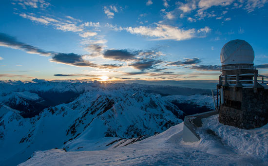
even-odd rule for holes
{"type": "Polygon", "coordinates": [[[106,50],[103,54],[105,58],[113,60],[134,59],[136,53],[130,53],[128,50],[106,50]]]}

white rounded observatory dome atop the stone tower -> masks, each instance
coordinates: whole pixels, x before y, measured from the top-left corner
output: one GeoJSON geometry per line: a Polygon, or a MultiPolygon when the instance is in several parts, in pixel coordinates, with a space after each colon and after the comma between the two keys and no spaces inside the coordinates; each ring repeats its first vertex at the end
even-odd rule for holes
{"type": "Polygon", "coordinates": [[[231,40],[221,50],[222,66],[231,64],[251,64],[253,66],[253,61],[254,51],[245,40],[231,40]]]}

